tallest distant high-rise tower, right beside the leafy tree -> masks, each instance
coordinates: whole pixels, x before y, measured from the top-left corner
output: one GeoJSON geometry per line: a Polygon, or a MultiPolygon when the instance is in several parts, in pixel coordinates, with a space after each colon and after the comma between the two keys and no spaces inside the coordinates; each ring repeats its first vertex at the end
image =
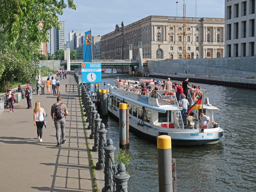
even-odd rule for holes
{"type": "Polygon", "coordinates": [[[56,50],[64,50],[65,44],[65,23],[59,21],[59,29],[52,27],[50,31],[50,53],[55,54],[56,50]]]}

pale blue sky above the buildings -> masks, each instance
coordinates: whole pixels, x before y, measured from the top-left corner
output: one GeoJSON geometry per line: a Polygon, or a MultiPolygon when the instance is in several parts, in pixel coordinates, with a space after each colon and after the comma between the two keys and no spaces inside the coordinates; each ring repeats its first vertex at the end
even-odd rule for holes
{"type": "MultiPolygon", "coordinates": [[[[186,16],[224,18],[223,0],[187,0],[186,16]]],[[[180,0],[74,0],[76,10],[65,9],[60,20],[65,21],[65,41],[69,32],[77,29],[86,32],[92,29],[92,35],[104,35],[115,30],[116,24],[124,26],[149,15],[183,16],[183,1],[180,0]],[[176,2],[178,1],[178,12],[176,2]]]]}

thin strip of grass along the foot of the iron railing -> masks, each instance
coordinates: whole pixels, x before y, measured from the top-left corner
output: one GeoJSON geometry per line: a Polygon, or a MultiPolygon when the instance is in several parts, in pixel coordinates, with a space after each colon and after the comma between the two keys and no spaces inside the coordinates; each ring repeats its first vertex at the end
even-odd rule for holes
{"type": "MultiPolygon", "coordinates": [[[[81,97],[79,97],[79,101],[80,101],[80,107],[81,107],[81,113],[82,113],[82,119],[83,119],[83,125],[84,127],[86,127],[86,121],[84,119],[85,115],[83,112],[83,106],[82,106],[82,100],[81,97]]],[[[87,129],[86,129],[86,137],[87,137],[87,129]]],[[[100,190],[98,189],[98,185],[97,185],[97,179],[96,179],[96,168],[93,162],[93,155],[92,155],[92,149],[91,149],[91,143],[87,140],[88,142],[88,148],[89,148],[89,155],[90,155],[90,164],[91,164],[91,170],[92,170],[92,175],[93,175],[93,192],[99,192],[100,190]]]]}

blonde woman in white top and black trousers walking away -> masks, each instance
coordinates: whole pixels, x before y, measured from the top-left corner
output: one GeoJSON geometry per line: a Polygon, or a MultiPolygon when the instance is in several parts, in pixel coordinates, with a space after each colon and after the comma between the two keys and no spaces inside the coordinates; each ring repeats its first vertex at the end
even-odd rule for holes
{"type": "Polygon", "coordinates": [[[46,112],[44,108],[40,107],[40,102],[35,102],[34,109],[34,125],[37,127],[37,138],[40,142],[42,142],[42,127],[44,126],[44,120],[46,116],[46,112]]]}

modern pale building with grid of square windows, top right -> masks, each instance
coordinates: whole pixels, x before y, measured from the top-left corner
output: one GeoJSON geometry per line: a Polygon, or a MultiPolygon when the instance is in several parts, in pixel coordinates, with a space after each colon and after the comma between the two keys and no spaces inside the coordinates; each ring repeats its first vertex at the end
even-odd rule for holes
{"type": "Polygon", "coordinates": [[[225,57],[256,55],[255,0],[225,0],[225,57]]]}

